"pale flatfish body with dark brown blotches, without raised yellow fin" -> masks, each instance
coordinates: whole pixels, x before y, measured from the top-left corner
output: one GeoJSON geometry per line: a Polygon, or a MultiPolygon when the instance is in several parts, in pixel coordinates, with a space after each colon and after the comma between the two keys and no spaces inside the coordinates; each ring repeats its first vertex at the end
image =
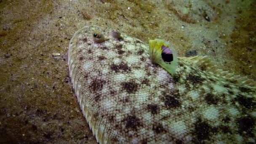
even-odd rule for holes
{"type": "Polygon", "coordinates": [[[69,45],[75,94],[97,141],[255,143],[255,82],[202,57],[179,58],[172,76],[152,64],[147,44],[110,31],[84,27],[69,45]]]}

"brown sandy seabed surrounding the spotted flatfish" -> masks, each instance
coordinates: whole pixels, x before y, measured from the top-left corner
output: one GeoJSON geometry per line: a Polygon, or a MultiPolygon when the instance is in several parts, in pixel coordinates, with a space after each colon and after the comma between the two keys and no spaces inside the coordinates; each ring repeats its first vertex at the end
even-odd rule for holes
{"type": "Polygon", "coordinates": [[[196,51],[256,80],[255,0],[0,0],[0,143],[96,143],[72,90],[67,50],[85,25],[178,56],[196,51]]]}

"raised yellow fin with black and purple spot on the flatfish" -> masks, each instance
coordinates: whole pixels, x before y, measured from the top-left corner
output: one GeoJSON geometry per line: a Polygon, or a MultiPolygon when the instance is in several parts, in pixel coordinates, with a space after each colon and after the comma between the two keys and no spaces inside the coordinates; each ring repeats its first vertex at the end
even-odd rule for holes
{"type": "Polygon", "coordinates": [[[171,44],[164,40],[149,40],[149,56],[153,64],[159,64],[170,74],[175,74],[177,56],[171,44]]]}

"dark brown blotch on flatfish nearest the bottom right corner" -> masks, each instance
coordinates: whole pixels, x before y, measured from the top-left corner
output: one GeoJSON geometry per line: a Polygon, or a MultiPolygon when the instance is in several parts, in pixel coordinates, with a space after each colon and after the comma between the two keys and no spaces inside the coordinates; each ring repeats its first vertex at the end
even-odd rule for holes
{"type": "Polygon", "coordinates": [[[250,116],[248,117],[241,117],[238,120],[238,132],[240,134],[243,134],[244,132],[246,132],[247,136],[253,135],[253,127],[254,127],[254,120],[253,118],[251,118],[250,116]]]}

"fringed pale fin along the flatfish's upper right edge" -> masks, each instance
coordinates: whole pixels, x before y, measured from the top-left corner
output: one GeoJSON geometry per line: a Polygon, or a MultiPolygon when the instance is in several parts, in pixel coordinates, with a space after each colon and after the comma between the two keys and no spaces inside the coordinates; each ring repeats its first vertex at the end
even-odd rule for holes
{"type": "Polygon", "coordinates": [[[256,88],[256,82],[254,80],[245,76],[235,75],[229,71],[218,69],[216,65],[207,58],[207,56],[178,57],[178,59],[192,67],[208,72],[216,77],[222,77],[232,83],[256,88]]]}

